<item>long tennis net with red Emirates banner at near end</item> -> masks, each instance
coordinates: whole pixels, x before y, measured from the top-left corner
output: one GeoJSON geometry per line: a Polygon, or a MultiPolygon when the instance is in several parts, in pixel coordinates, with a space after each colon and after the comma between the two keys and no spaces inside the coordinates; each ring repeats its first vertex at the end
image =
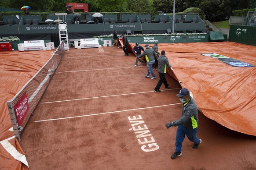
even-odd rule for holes
{"type": "Polygon", "coordinates": [[[14,135],[19,142],[24,127],[40,102],[52,76],[59,66],[59,62],[62,59],[64,52],[64,43],[62,41],[44,66],[11,100],[7,101],[14,135]]]}

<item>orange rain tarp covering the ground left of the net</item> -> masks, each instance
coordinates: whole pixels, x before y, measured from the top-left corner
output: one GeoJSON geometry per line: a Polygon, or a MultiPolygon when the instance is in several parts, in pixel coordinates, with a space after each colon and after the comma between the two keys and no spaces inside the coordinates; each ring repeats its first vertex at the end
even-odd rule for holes
{"type": "Polygon", "coordinates": [[[14,159],[6,149],[4,141],[9,142],[22,155],[18,140],[11,129],[11,119],[7,109],[7,101],[11,100],[20,89],[52,56],[52,50],[41,51],[7,51],[0,52],[0,169],[28,169],[20,161],[14,159]]]}

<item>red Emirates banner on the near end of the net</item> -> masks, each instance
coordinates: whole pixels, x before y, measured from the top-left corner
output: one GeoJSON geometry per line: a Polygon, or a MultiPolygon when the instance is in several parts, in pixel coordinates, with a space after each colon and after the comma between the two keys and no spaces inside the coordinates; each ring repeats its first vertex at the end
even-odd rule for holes
{"type": "Polygon", "coordinates": [[[26,117],[26,114],[29,112],[29,99],[26,92],[14,106],[14,110],[17,117],[18,126],[21,126],[24,118],[26,117]]]}

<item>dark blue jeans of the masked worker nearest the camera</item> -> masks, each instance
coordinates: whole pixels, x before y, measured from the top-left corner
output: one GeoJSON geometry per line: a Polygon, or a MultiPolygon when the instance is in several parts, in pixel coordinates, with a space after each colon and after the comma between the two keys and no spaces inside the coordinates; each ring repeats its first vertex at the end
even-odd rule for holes
{"type": "Polygon", "coordinates": [[[181,152],[182,142],[184,141],[185,135],[187,138],[194,142],[195,144],[200,143],[199,138],[197,138],[197,128],[190,129],[179,125],[176,132],[176,140],[175,140],[175,152],[181,152]]]}

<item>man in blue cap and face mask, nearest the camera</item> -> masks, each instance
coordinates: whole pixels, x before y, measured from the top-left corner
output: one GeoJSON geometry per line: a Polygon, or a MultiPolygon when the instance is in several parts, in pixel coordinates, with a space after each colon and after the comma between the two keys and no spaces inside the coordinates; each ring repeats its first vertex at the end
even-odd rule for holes
{"type": "Polygon", "coordinates": [[[181,118],[165,124],[167,128],[171,126],[178,126],[175,139],[175,152],[171,156],[172,159],[175,159],[177,156],[181,156],[181,147],[185,135],[191,142],[194,142],[194,145],[192,145],[193,149],[197,149],[199,144],[202,142],[201,139],[197,138],[197,105],[194,99],[190,96],[189,90],[185,88],[181,89],[179,94],[176,96],[178,96],[179,100],[183,103],[181,118]]]}

